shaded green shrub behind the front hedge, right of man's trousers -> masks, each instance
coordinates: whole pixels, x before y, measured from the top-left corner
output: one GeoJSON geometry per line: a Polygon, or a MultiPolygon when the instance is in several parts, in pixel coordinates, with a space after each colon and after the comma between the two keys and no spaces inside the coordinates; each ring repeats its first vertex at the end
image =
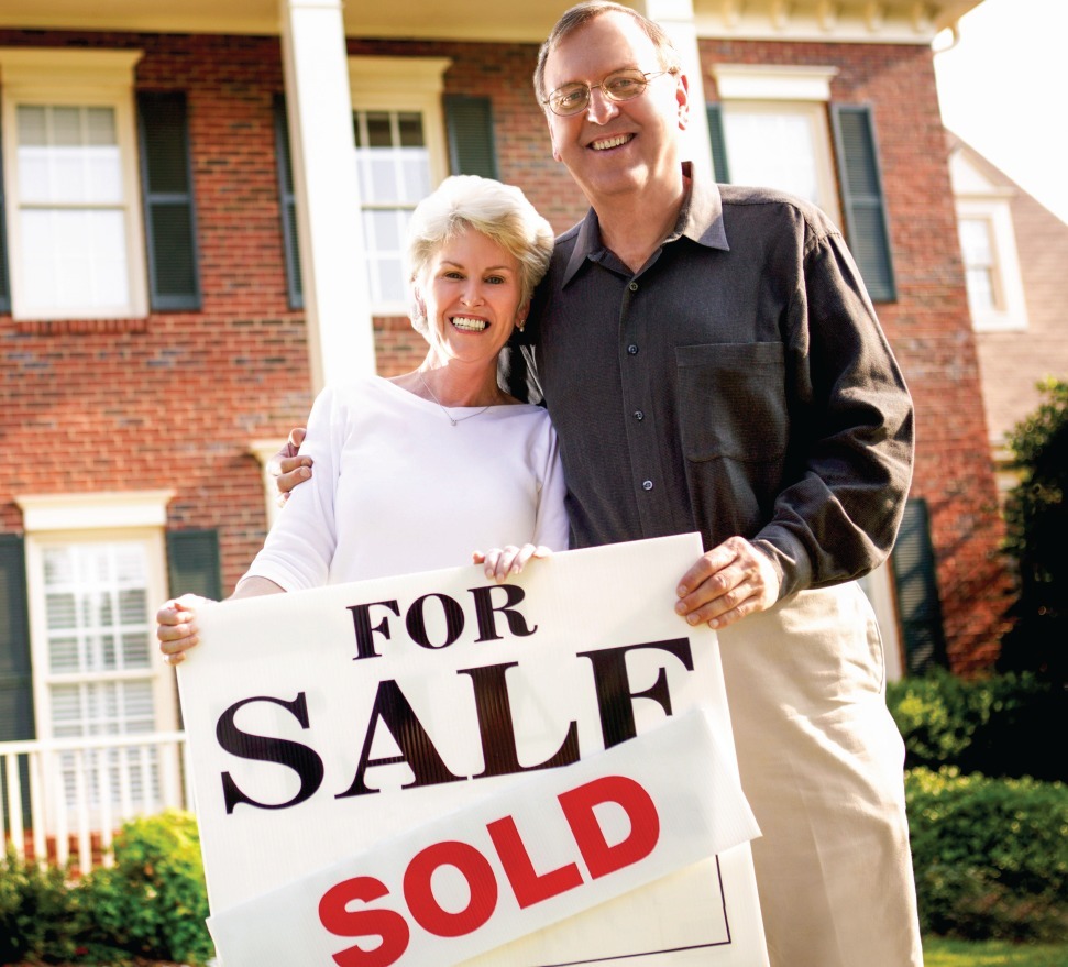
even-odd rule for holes
{"type": "Polygon", "coordinates": [[[887,703],[905,740],[905,767],[1068,781],[1049,738],[1068,730],[1068,693],[1031,673],[966,680],[944,670],[890,682],[887,703]]]}

